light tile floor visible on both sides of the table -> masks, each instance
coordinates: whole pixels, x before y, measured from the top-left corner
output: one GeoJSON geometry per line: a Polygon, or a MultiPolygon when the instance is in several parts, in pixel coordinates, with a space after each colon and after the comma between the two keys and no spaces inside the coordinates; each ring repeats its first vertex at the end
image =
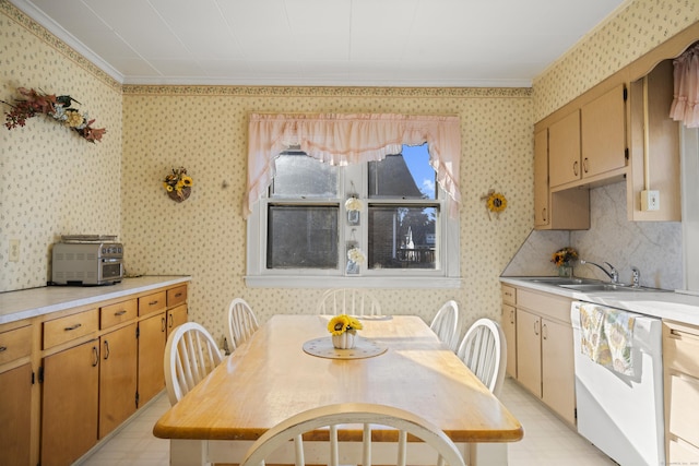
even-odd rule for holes
{"type": "MultiPolygon", "coordinates": [[[[616,465],[578,435],[536,398],[506,379],[502,403],[524,427],[524,439],[509,445],[510,466],[613,466],[616,465]]],[[[165,466],[169,441],[153,437],[153,425],[169,407],[163,393],[132,418],[110,440],[83,457],[85,466],[165,466]]]]}

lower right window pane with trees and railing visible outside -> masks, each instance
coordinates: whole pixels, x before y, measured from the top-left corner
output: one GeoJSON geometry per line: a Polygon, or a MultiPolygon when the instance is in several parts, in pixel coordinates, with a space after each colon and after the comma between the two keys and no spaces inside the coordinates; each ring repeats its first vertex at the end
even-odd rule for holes
{"type": "Polygon", "coordinates": [[[436,268],[438,207],[369,206],[370,268],[436,268]]]}

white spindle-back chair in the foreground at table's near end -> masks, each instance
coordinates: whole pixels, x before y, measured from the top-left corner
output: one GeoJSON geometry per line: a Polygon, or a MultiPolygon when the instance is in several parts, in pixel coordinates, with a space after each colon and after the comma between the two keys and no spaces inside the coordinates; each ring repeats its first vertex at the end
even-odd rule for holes
{"type": "Polygon", "coordinates": [[[371,466],[374,463],[404,466],[406,461],[414,464],[414,458],[407,457],[408,434],[425,442],[411,442],[412,445],[429,447],[430,464],[464,466],[464,459],[457,445],[436,426],[403,409],[364,403],[321,406],[280,422],[252,444],[240,466],[263,466],[265,461],[295,463],[296,466],[304,466],[307,462],[329,466],[337,466],[341,463],[363,466],[371,466]],[[357,430],[363,428],[362,441],[343,443],[337,441],[337,425],[348,423],[359,425],[357,430]],[[371,430],[376,426],[387,426],[398,430],[398,449],[392,444],[393,449],[389,453],[382,450],[383,445],[380,444],[386,445],[387,442],[371,443],[371,430]],[[330,443],[330,449],[328,446],[312,449],[308,441],[304,444],[301,434],[321,428],[329,428],[328,440],[322,441],[330,443]],[[275,456],[271,456],[280,447],[284,447],[281,454],[277,452],[275,456]],[[358,450],[359,447],[362,450],[358,450]],[[353,452],[354,456],[352,456],[353,452]]]}

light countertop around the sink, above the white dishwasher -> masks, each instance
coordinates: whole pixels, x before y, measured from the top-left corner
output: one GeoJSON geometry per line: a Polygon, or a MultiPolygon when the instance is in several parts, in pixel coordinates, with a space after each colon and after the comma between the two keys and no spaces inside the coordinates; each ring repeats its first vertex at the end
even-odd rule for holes
{"type": "Polygon", "coordinates": [[[639,314],[699,325],[699,296],[664,290],[582,292],[534,282],[541,278],[543,277],[500,277],[500,282],[516,287],[545,291],[639,314]]]}

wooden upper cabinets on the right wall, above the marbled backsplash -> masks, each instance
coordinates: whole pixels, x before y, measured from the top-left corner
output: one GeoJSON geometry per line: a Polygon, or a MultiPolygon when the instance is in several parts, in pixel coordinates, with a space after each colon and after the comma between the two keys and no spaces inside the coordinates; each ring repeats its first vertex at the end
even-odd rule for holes
{"type": "Polygon", "coordinates": [[[695,23],[534,126],[536,229],[589,228],[589,190],[624,180],[629,220],[682,219],[672,59],[698,39],[695,23]]]}

